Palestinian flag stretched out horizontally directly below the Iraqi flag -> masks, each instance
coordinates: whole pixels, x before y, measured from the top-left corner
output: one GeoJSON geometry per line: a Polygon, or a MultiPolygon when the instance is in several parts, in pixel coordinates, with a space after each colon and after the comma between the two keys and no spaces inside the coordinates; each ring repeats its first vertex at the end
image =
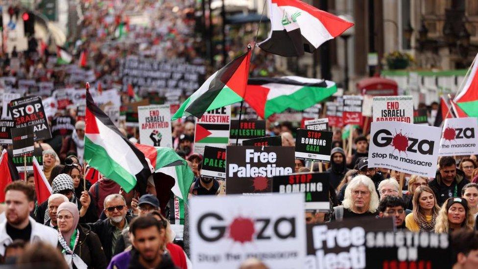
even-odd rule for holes
{"type": "Polygon", "coordinates": [[[300,76],[249,78],[244,100],[263,119],[287,108],[304,110],[332,96],[337,86],[329,80],[300,76]]]}

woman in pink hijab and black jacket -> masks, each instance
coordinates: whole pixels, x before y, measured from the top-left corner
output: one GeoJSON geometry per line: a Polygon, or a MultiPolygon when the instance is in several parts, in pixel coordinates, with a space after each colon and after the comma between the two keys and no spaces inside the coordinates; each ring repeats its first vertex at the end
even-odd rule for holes
{"type": "Polygon", "coordinates": [[[70,268],[104,269],[106,256],[98,236],[78,225],[79,212],[72,202],[64,202],[58,207],[58,247],[70,268]]]}

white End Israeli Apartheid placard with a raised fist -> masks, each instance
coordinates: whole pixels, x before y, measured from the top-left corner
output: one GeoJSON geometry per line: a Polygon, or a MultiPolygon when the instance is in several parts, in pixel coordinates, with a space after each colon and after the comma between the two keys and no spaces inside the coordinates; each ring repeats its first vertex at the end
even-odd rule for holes
{"type": "Polygon", "coordinates": [[[154,147],[172,147],[169,105],[138,106],[140,142],[154,147]]]}

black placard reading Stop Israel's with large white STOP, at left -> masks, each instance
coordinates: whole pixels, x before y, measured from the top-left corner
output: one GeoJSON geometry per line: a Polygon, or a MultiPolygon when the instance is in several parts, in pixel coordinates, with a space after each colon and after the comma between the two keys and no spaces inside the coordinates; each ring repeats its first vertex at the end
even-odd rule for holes
{"type": "Polygon", "coordinates": [[[40,97],[28,96],[11,100],[8,110],[15,121],[15,127],[33,126],[35,141],[51,138],[48,120],[40,97]]]}

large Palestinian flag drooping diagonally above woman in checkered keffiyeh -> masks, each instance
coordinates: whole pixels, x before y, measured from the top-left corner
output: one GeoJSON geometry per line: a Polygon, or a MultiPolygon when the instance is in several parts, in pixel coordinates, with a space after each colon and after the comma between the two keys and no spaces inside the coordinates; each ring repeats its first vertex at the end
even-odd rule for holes
{"type": "Polygon", "coordinates": [[[128,193],[138,184],[143,195],[151,175],[144,153],[96,106],[89,90],[86,91],[85,114],[85,161],[128,193]]]}

